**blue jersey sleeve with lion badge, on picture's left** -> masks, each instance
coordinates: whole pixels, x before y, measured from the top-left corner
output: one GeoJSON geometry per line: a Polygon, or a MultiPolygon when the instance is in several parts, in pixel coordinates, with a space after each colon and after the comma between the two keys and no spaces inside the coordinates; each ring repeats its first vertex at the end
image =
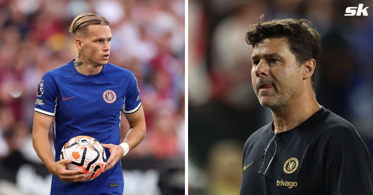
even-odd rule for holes
{"type": "Polygon", "coordinates": [[[50,72],[45,73],[37,87],[34,112],[54,117],[59,95],[58,91],[57,84],[50,72]]]}

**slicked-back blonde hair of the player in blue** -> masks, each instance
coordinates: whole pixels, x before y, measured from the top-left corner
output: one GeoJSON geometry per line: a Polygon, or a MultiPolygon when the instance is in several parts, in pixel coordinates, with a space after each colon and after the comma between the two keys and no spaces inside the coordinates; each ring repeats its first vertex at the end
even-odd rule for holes
{"type": "Polygon", "coordinates": [[[107,25],[109,22],[106,18],[94,13],[82,13],[72,21],[69,32],[76,38],[78,35],[85,36],[89,25],[107,25]]]}

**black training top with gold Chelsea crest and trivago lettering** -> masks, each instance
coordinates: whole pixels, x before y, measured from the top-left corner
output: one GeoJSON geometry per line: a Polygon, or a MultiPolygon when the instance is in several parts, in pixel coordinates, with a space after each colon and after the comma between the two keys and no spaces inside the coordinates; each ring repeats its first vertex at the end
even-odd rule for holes
{"type": "Polygon", "coordinates": [[[245,143],[240,195],[373,195],[372,159],[347,120],[322,107],[297,127],[278,133],[264,170],[277,145],[275,157],[263,176],[258,165],[275,135],[272,126],[258,129],[245,143]]]}

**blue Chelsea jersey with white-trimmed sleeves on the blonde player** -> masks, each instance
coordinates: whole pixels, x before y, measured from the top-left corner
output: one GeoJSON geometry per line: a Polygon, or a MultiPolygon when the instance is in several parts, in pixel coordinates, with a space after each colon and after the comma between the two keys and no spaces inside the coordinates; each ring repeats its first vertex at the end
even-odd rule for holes
{"type": "MultiPolygon", "coordinates": [[[[79,73],[73,60],[48,71],[38,84],[35,112],[53,119],[55,160],[69,139],[88,135],[102,144],[120,144],[120,117],[141,107],[140,90],[134,74],[107,63],[97,75],[79,73]]],[[[110,152],[105,149],[109,159],[110,152]]],[[[120,161],[88,182],[65,183],[53,175],[51,194],[123,193],[120,161]],[[113,184],[114,185],[111,185],[113,184]],[[118,184],[118,185],[115,185],[118,184]],[[115,187],[113,187],[115,186],[115,187]]]]}

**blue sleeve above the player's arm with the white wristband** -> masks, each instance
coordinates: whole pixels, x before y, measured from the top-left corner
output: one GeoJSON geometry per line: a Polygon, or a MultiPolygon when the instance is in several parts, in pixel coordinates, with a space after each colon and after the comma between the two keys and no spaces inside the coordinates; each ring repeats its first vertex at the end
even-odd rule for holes
{"type": "Polygon", "coordinates": [[[132,72],[129,77],[122,107],[122,111],[125,114],[133,114],[141,107],[140,89],[137,80],[132,72]]]}

